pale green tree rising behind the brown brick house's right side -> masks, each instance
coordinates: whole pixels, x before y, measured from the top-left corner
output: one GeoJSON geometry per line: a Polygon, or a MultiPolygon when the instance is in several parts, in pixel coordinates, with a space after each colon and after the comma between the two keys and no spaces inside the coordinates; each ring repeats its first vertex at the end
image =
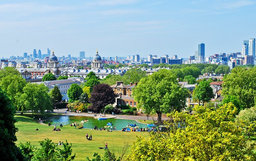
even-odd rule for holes
{"type": "Polygon", "coordinates": [[[141,69],[129,69],[124,75],[123,80],[124,84],[130,84],[130,82],[140,82],[140,79],[146,77],[146,71],[142,71],[141,69]]]}

